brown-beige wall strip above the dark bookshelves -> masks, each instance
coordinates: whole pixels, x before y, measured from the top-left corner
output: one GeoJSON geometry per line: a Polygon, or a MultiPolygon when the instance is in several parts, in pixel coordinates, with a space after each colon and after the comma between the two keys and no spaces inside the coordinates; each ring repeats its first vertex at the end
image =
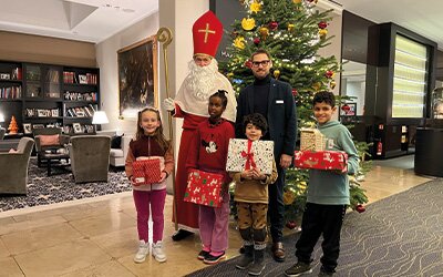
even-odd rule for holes
{"type": "Polygon", "coordinates": [[[95,68],[95,44],[0,31],[0,60],[95,68]]]}

